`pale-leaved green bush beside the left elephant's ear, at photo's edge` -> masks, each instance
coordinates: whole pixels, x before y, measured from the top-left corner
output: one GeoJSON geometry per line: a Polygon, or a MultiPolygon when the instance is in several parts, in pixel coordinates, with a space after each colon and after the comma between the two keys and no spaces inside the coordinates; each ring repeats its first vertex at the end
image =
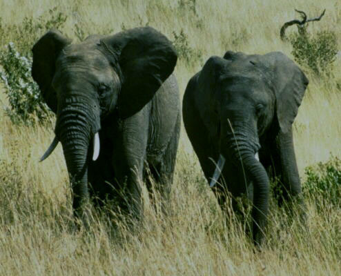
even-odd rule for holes
{"type": "Polygon", "coordinates": [[[14,124],[33,125],[45,123],[52,112],[43,102],[39,87],[31,77],[32,60],[21,55],[9,43],[7,50],[0,52],[0,80],[4,83],[4,92],[10,108],[5,108],[14,124]]]}

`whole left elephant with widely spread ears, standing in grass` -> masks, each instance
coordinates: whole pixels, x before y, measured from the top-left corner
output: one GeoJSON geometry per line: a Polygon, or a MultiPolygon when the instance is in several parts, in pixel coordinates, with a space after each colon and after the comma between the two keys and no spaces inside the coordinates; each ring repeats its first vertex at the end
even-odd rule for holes
{"type": "Polygon", "coordinates": [[[181,121],[171,41],[150,27],[77,44],[50,30],[32,52],[32,77],[57,115],[55,139],[41,159],[61,142],[75,215],[84,216],[89,197],[102,202],[123,188],[121,201],[139,213],[147,172],[168,194],[181,121]]]}

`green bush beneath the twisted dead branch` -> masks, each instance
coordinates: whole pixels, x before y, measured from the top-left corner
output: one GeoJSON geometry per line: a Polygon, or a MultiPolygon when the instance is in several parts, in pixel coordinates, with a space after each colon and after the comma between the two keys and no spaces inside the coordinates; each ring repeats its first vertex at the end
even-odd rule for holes
{"type": "Polygon", "coordinates": [[[314,37],[306,31],[296,32],[291,35],[290,41],[293,46],[291,53],[300,65],[310,68],[317,75],[331,71],[338,53],[335,32],[322,30],[314,37]]]}

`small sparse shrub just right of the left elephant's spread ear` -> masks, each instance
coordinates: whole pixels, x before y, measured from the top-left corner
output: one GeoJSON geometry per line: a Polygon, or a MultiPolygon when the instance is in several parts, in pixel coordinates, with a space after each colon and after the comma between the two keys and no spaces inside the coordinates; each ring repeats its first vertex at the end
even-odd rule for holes
{"type": "Polygon", "coordinates": [[[173,45],[177,50],[179,59],[184,59],[187,63],[193,64],[196,61],[202,60],[202,51],[191,48],[188,45],[188,37],[184,30],[181,29],[180,33],[173,32],[173,45]]]}

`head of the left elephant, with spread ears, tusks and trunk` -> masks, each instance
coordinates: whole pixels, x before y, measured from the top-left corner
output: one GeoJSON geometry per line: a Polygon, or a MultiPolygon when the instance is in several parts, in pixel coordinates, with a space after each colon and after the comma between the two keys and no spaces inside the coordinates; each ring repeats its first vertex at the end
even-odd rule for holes
{"type": "Polygon", "coordinates": [[[78,44],[50,30],[32,52],[32,77],[57,115],[55,139],[41,160],[61,142],[77,215],[88,198],[88,164],[99,155],[101,121],[113,112],[125,119],[141,110],[173,72],[177,55],[150,27],[78,44]]]}

